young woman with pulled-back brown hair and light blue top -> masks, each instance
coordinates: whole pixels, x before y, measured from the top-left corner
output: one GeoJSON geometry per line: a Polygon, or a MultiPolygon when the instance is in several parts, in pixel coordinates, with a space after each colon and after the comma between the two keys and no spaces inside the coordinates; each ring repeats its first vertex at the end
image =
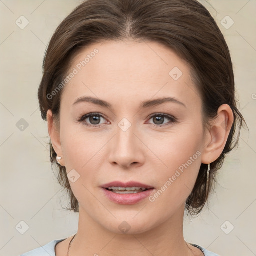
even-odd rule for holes
{"type": "Polygon", "coordinates": [[[87,0],[38,90],[77,233],[31,255],[217,255],[183,237],[245,123],[227,44],[196,0],[87,0]]]}

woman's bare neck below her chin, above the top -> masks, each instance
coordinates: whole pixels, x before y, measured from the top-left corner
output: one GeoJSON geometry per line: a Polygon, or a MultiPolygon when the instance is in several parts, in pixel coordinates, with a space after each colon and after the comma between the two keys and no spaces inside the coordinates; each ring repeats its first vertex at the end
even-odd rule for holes
{"type": "Polygon", "coordinates": [[[183,237],[183,215],[184,205],[171,218],[148,230],[117,233],[95,222],[80,208],[78,231],[70,255],[192,255],[192,246],[188,246],[183,237]]]}

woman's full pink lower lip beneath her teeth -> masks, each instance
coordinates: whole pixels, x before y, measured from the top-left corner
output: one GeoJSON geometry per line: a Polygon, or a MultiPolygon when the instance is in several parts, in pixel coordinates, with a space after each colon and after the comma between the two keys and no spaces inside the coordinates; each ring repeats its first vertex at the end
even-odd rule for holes
{"type": "Polygon", "coordinates": [[[151,188],[139,193],[119,194],[119,193],[109,191],[106,188],[102,188],[102,189],[109,200],[119,204],[138,203],[141,200],[148,197],[153,191],[153,188],[151,188]]]}

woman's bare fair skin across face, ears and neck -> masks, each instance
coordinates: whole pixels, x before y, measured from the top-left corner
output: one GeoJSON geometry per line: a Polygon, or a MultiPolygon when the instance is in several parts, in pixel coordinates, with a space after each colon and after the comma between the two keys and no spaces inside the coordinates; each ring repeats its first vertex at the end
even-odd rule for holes
{"type": "MultiPolygon", "coordinates": [[[[223,151],[233,123],[231,108],[221,105],[203,135],[201,99],[190,68],[172,50],[149,41],[95,43],[73,59],[70,71],[95,48],[99,53],[63,88],[59,129],[51,110],[47,112],[48,131],[55,152],[62,157],[60,164],[67,173],[75,169],[80,175],[74,183],[69,180],[79,201],[78,232],[69,255],[202,256],[183,237],[185,201],[201,163],[213,162],[223,151]],[[173,67],[183,73],[178,80],[169,75],[173,67]],[[89,102],[73,105],[81,96],[103,99],[112,109],[89,102]],[[166,96],[185,106],[166,102],[139,107],[144,100],[166,96]],[[91,112],[105,117],[100,117],[99,124],[89,118],[78,121],[91,112]],[[150,118],[157,113],[177,121],[165,117],[160,123],[150,118]],[[118,127],[123,118],[131,124],[126,131],[118,127]],[[154,202],[146,198],[122,205],[102,193],[100,186],[105,183],[133,180],[153,186],[154,194],[196,151],[198,158],[154,202]],[[130,225],[127,233],[118,228],[123,221],[130,225]]],[[[56,245],[57,256],[66,255],[71,238],[56,245]]]]}

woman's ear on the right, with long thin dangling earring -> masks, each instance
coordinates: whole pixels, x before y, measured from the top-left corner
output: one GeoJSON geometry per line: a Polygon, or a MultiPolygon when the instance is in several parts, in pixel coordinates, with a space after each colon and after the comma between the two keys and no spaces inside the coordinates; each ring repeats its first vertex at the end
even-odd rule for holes
{"type": "Polygon", "coordinates": [[[202,149],[202,163],[215,161],[224,150],[229,132],[233,124],[233,111],[228,104],[218,108],[217,116],[211,121],[210,130],[206,131],[202,149]]]}

